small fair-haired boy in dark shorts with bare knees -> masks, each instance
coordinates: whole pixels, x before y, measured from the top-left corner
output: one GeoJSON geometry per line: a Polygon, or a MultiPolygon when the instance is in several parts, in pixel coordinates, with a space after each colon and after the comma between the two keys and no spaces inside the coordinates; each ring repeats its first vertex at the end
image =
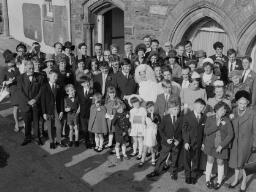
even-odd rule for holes
{"type": "Polygon", "coordinates": [[[80,113],[79,102],[75,95],[75,88],[72,84],[67,84],[65,86],[65,91],[68,94],[68,97],[64,99],[64,107],[65,112],[67,113],[67,124],[69,125],[69,146],[73,146],[73,135],[75,132],[75,146],[78,147],[78,114],[80,113]]]}

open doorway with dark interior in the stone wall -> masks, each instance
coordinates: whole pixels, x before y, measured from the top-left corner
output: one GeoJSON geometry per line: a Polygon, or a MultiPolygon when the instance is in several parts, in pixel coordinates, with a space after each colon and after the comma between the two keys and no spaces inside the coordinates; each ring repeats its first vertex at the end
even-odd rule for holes
{"type": "Polygon", "coordinates": [[[87,38],[90,39],[88,45],[92,47],[95,43],[102,43],[104,49],[109,49],[111,44],[116,44],[122,53],[124,50],[124,3],[121,0],[87,0],[83,3],[83,7],[85,25],[93,26],[92,33],[87,38]]]}

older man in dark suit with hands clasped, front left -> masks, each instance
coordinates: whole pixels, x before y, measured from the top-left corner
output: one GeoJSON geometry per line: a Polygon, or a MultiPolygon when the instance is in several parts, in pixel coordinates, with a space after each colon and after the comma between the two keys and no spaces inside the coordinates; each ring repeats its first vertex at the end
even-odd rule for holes
{"type": "Polygon", "coordinates": [[[25,122],[25,140],[22,145],[27,145],[32,141],[32,123],[36,142],[42,145],[39,132],[39,111],[44,79],[43,76],[34,73],[34,65],[31,61],[25,62],[26,73],[22,74],[18,80],[19,107],[25,122]]]}

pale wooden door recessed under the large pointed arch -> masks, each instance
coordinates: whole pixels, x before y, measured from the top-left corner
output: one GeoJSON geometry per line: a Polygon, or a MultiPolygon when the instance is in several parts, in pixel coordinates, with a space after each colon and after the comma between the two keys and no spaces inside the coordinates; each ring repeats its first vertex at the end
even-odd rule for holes
{"type": "Polygon", "coordinates": [[[204,17],[193,23],[184,33],[182,40],[190,40],[194,50],[204,50],[207,55],[213,55],[213,44],[220,41],[224,45],[224,53],[232,48],[230,37],[224,28],[210,17],[204,17]]]}

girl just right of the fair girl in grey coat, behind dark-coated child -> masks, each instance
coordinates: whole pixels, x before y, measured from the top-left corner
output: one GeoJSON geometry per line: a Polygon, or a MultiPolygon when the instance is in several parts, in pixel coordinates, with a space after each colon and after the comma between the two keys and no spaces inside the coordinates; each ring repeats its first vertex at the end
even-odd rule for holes
{"type": "Polygon", "coordinates": [[[115,126],[112,123],[112,119],[116,113],[115,106],[118,101],[120,101],[120,99],[116,97],[116,89],[114,87],[108,87],[105,101],[105,107],[107,109],[106,119],[108,124],[108,144],[106,145],[106,148],[112,147],[113,144],[115,126]]]}

